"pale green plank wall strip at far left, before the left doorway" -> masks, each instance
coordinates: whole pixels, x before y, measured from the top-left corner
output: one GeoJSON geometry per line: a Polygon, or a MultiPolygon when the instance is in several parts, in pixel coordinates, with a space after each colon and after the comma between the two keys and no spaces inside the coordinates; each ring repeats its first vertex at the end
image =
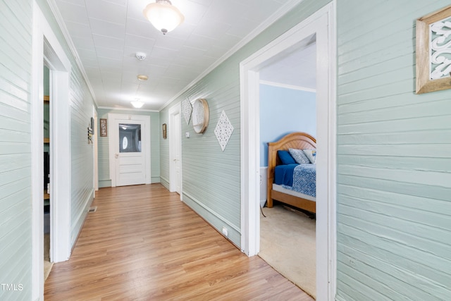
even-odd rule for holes
{"type": "Polygon", "coordinates": [[[0,0],[0,300],[32,295],[31,70],[32,1],[0,0]]]}

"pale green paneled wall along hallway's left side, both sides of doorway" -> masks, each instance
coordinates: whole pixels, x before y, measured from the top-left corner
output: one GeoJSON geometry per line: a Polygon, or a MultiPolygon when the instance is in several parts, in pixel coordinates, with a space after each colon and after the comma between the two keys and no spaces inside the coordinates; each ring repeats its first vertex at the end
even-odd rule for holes
{"type": "MultiPolygon", "coordinates": [[[[70,223],[75,238],[94,191],[92,145],[86,134],[93,101],[49,7],[45,1],[37,3],[72,63],[70,223]]],[[[16,285],[16,290],[0,285],[0,300],[32,298],[32,5],[30,0],[0,0],[0,283],[16,285]]]]}

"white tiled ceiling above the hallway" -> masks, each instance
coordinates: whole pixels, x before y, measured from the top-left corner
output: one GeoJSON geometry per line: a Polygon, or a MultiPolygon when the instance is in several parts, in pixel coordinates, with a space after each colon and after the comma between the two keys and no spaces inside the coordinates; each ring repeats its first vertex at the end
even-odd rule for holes
{"type": "MultiPolygon", "coordinates": [[[[154,0],[54,1],[97,105],[131,109],[130,101],[138,97],[145,103],[142,109],[159,110],[302,0],[171,0],[185,15],[185,22],[167,35],[142,14],[154,0]],[[136,59],[138,51],[147,54],[144,61],[136,59]],[[137,80],[138,74],[149,80],[137,80]]],[[[268,71],[272,74],[268,80],[289,78],[288,85],[311,86],[308,80],[295,82],[294,78],[305,76],[288,75],[287,66],[294,65],[286,59],[280,62],[285,67],[268,71]]]]}

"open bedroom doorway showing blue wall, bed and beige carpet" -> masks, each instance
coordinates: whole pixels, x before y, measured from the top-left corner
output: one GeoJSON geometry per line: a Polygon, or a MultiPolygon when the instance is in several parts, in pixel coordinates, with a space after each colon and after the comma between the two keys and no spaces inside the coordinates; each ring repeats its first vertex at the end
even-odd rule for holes
{"type": "MultiPolygon", "coordinates": [[[[267,142],[299,132],[316,137],[316,35],[273,56],[271,63],[259,70],[259,78],[260,176],[267,179],[267,173],[273,171],[267,142]]],[[[290,147],[298,148],[293,144],[290,147]]],[[[272,180],[261,185],[261,204],[268,199],[268,182],[272,188],[272,180]]],[[[293,196],[292,191],[280,186],[277,189],[288,191],[290,197],[274,197],[281,202],[274,202],[272,207],[273,202],[268,200],[272,208],[261,209],[259,257],[315,297],[316,219],[313,213],[302,210],[307,209],[307,204],[287,204],[298,202],[292,199],[297,194],[293,196]]],[[[314,198],[314,194],[305,197],[314,198]]]]}

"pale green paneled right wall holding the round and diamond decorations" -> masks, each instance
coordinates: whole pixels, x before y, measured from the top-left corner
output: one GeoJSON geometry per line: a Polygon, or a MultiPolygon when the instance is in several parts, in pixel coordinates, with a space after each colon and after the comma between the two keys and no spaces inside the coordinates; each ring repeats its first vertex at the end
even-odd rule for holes
{"type": "MultiPolygon", "coordinates": [[[[302,1],[161,111],[163,120],[167,118],[168,109],[186,97],[192,102],[204,98],[209,103],[209,127],[203,135],[194,133],[191,121],[187,125],[184,118],[182,120],[183,200],[219,231],[226,226],[235,245],[241,243],[240,62],[328,2],[302,1]],[[214,135],[223,110],[234,128],[224,152],[214,135]],[[190,138],[185,138],[187,132],[190,138]]],[[[161,152],[167,154],[168,141],[162,143],[161,152]]],[[[163,160],[162,156],[161,171],[162,176],[168,177],[168,157],[163,160]]]]}

